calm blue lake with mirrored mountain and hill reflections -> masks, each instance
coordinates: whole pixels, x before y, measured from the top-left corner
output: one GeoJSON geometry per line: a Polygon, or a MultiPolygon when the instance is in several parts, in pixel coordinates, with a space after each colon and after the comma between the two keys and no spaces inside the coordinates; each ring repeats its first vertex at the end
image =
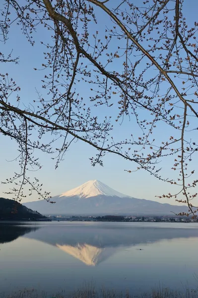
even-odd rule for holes
{"type": "Polygon", "coordinates": [[[198,287],[198,224],[0,222],[0,292],[198,287]]]}

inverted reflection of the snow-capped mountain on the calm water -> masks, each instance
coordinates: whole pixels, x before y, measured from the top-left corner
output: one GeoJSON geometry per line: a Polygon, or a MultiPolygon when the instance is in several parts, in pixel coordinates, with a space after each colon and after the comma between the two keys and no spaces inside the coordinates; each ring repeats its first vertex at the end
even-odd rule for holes
{"type": "Polygon", "coordinates": [[[53,245],[88,266],[96,266],[120,250],[162,239],[197,237],[197,229],[172,224],[163,229],[152,224],[51,223],[25,235],[53,245]],[[163,231],[163,232],[162,232],[163,231]]]}

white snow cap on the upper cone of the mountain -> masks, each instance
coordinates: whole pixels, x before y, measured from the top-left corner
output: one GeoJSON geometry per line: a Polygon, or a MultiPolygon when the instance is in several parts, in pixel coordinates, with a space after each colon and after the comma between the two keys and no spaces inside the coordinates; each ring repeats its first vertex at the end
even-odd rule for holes
{"type": "Polygon", "coordinates": [[[113,188],[107,186],[106,184],[98,181],[98,180],[90,180],[86,183],[73,188],[69,191],[66,191],[65,193],[61,194],[60,197],[73,197],[77,196],[79,198],[90,198],[95,196],[110,196],[110,197],[120,197],[125,198],[129,197],[127,195],[124,195],[113,188]]]}

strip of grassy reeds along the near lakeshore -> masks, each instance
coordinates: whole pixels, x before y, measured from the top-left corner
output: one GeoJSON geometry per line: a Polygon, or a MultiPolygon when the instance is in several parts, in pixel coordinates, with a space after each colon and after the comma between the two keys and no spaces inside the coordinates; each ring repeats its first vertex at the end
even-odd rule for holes
{"type": "Polygon", "coordinates": [[[152,290],[150,293],[143,293],[138,296],[126,293],[115,292],[101,289],[96,291],[94,288],[85,288],[66,294],[64,291],[49,295],[44,291],[27,290],[18,291],[10,295],[0,294],[0,298],[198,298],[198,292],[195,290],[187,290],[185,293],[173,291],[168,288],[159,288],[152,290]]]}

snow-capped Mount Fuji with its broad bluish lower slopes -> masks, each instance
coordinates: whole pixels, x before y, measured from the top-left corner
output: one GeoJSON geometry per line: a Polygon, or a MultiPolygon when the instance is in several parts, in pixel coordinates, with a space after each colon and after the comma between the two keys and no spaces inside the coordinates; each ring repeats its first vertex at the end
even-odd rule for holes
{"type": "Polygon", "coordinates": [[[173,206],[155,201],[135,199],[98,180],[90,180],[76,188],[46,200],[24,203],[41,214],[51,215],[134,215],[162,216],[187,212],[186,206],[173,206]]]}

